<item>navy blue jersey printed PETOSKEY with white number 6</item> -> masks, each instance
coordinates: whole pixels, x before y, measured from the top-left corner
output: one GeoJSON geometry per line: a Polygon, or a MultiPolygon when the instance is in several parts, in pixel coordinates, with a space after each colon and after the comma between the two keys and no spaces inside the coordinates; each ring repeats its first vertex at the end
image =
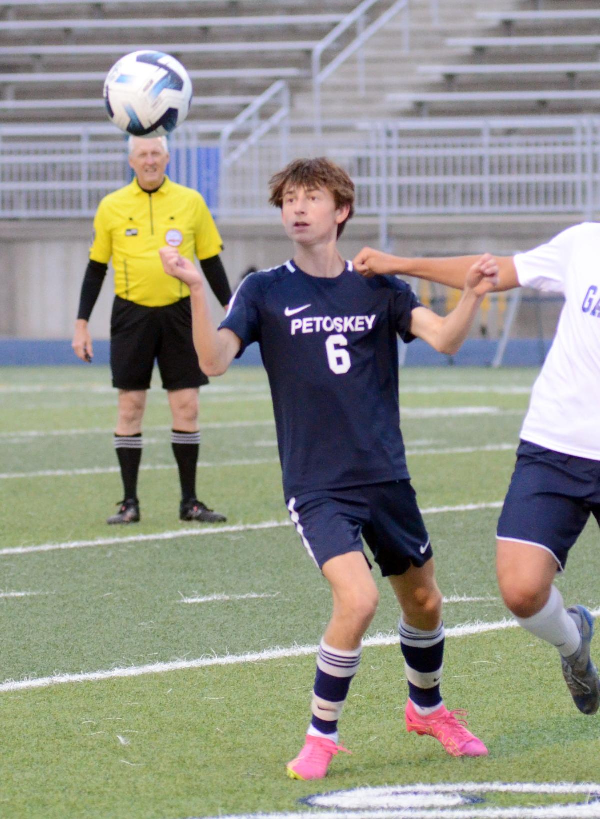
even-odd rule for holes
{"type": "Polygon", "coordinates": [[[220,325],[258,342],[269,375],[286,500],[410,477],[400,432],[398,337],[420,306],[398,278],[337,278],[293,261],[245,278],[220,325]]]}

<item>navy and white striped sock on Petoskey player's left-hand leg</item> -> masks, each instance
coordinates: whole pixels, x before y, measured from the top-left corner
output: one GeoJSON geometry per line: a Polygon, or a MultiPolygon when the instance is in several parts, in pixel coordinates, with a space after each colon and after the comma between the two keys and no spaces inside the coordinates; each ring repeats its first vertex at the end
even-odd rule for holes
{"type": "Polygon", "coordinates": [[[334,649],[320,641],[316,658],[315,688],[312,694],[312,720],[308,733],[326,736],[337,743],[338,720],[348,697],[352,677],[361,663],[362,646],[353,651],[334,649]]]}

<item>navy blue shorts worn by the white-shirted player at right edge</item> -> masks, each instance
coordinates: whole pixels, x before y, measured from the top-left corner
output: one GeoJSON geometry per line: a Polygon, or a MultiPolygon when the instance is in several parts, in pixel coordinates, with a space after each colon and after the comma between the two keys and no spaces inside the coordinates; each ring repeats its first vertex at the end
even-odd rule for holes
{"type": "Polygon", "coordinates": [[[600,523],[600,461],[521,441],[498,537],[542,546],[565,568],[589,515],[600,523]]]}

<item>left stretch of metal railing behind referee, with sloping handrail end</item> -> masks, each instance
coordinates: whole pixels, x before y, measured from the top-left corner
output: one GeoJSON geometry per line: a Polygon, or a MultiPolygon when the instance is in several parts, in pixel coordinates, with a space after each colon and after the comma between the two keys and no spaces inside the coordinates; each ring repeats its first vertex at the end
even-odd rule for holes
{"type": "MultiPolygon", "coordinates": [[[[289,149],[289,87],[283,80],[228,124],[177,129],[169,139],[168,173],[200,190],[211,210],[226,214],[230,166],[237,169],[232,184],[252,185],[258,165],[248,152],[263,137],[271,140],[270,161],[280,165],[289,149]]],[[[0,126],[0,219],[92,216],[102,197],[130,182],[126,140],[111,124],[0,126]]]]}

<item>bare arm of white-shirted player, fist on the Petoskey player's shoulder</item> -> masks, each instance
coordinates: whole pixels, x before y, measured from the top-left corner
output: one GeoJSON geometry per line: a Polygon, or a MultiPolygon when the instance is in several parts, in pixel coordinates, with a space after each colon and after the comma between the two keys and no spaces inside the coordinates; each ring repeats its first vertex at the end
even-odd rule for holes
{"type": "MultiPolygon", "coordinates": [[[[479,256],[439,256],[438,258],[415,258],[393,256],[391,253],[363,247],[353,264],[358,273],[370,278],[377,274],[406,275],[425,278],[430,282],[446,284],[448,287],[465,287],[468,271],[479,256]]],[[[515,262],[512,256],[496,256],[498,262],[498,283],[494,291],[511,290],[519,287],[515,262]]]]}

